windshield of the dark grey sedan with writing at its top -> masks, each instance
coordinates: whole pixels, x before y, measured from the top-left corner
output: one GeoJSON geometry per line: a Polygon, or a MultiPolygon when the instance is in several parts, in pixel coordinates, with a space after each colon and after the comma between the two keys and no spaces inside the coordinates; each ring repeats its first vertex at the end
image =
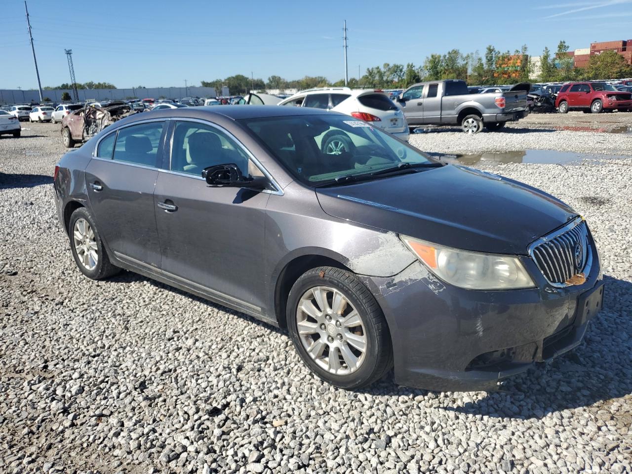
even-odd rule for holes
{"type": "Polygon", "coordinates": [[[291,174],[313,187],[378,179],[389,170],[441,166],[407,143],[348,116],[255,118],[241,123],[291,174]]]}

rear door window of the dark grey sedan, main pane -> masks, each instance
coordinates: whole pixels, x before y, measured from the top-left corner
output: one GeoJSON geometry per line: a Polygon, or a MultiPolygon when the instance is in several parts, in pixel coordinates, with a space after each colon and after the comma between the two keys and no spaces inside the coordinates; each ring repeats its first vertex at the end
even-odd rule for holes
{"type": "Polygon", "coordinates": [[[114,145],[114,159],[143,166],[156,166],[164,122],[141,123],[121,128],[114,145]]]}

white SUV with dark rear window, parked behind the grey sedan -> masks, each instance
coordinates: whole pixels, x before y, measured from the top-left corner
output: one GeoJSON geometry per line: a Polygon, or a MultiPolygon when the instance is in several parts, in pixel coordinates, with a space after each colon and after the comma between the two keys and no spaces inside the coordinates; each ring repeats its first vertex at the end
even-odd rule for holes
{"type": "MultiPolygon", "coordinates": [[[[317,87],[301,90],[279,102],[279,106],[314,107],[342,112],[381,128],[401,140],[408,141],[410,134],[401,107],[379,89],[317,87]]],[[[349,152],[353,143],[344,136],[331,135],[322,146],[328,153],[339,154],[349,152]]]]}

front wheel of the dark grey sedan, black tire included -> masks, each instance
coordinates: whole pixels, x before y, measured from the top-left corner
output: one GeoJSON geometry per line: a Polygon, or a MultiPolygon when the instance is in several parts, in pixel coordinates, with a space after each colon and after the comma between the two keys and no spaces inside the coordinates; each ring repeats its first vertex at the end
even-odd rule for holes
{"type": "Polygon", "coordinates": [[[343,389],[366,387],[381,379],[392,367],[391,334],[384,314],[367,287],[351,272],[317,267],[301,275],[289,292],[287,321],[289,335],[305,365],[333,386],[343,389]],[[327,301],[325,312],[320,310],[315,297],[323,294],[327,301]],[[334,294],[336,301],[342,301],[340,307],[343,309],[337,312],[331,309],[334,294]],[[315,317],[300,310],[307,304],[313,308],[315,317]],[[352,312],[357,318],[350,322],[352,312]],[[340,313],[339,317],[337,313],[340,313]],[[345,326],[345,320],[353,325],[345,326]],[[323,342],[319,343],[321,340],[323,342]],[[361,351],[361,347],[365,350],[361,351]],[[317,353],[310,355],[308,348],[314,348],[317,353]],[[347,360],[353,362],[347,363],[347,360]],[[355,364],[357,366],[353,367],[355,364]]]}

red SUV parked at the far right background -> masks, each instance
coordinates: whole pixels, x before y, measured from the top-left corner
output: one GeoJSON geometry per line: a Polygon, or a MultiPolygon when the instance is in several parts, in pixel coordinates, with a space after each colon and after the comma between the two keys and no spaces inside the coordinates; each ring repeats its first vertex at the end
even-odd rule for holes
{"type": "Polygon", "coordinates": [[[632,94],[621,92],[604,82],[571,82],[557,94],[556,107],[561,114],[571,109],[599,114],[604,110],[632,111],[632,94]]]}

